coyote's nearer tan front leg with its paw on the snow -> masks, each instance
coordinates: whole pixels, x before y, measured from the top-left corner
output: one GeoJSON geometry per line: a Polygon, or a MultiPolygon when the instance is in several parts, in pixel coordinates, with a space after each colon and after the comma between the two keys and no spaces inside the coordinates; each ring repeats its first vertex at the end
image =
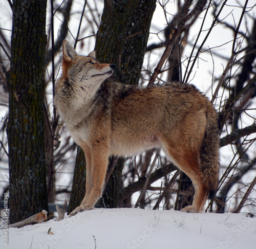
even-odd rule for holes
{"type": "MultiPolygon", "coordinates": [[[[85,154],[89,154],[84,151],[85,154]]],[[[88,162],[88,160],[87,160],[88,162]]],[[[82,212],[84,210],[93,209],[98,198],[102,194],[106,170],[109,163],[109,148],[103,147],[91,150],[91,165],[87,168],[86,195],[81,205],[70,213],[70,216],[82,212]],[[89,173],[89,174],[88,174],[89,173]],[[89,190],[88,190],[89,188],[89,190]]]]}

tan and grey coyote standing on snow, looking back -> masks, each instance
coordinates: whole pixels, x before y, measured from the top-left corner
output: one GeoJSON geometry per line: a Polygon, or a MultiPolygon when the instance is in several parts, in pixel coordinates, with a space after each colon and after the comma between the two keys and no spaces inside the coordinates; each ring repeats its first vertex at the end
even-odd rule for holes
{"type": "Polygon", "coordinates": [[[194,184],[193,203],[181,211],[202,212],[219,176],[219,123],[208,98],[180,82],[140,87],[104,81],[114,64],[99,63],[95,51],[79,56],[66,40],[62,49],[54,104],[87,166],[86,194],[70,215],[94,208],[110,155],[151,148],[162,148],[194,184]]]}

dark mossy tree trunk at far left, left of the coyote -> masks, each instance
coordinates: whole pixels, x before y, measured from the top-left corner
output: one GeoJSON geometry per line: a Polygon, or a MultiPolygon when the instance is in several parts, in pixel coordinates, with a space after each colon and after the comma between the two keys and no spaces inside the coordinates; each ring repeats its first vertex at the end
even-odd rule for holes
{"type": "Polygon", "coordinates": [[[44,90],[46,0],[13,1],[7,126],[10,223],[48,210],[44,90]]]}

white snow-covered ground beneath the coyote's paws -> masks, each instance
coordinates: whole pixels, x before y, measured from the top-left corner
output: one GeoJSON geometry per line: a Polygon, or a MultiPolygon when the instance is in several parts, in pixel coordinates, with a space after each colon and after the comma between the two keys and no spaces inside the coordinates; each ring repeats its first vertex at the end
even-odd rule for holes
{"type": "MultiPolygon", "coordinates": [[[[3,230],[2,230],[3,231],[3,230]]],[[[8,229],[11,249],[255,248],[256,218],[246,214],[94,209],[42,224],[8,229]],[[51,228],[51,233],[48,234],[51,228]]]]}

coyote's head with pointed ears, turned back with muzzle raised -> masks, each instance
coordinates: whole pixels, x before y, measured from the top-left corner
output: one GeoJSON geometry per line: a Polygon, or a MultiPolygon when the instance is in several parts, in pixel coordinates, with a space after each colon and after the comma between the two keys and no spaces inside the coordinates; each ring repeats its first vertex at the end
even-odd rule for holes
{"type": "Polygon", "coordinates": [[[73,87],[91,91],[110,77],[115,69],[114,64],[102,64],[95,58],[95,51],[88,56],[79,56],[71,44],[65,40],[62,46],[62,76],[73,87]]]}

